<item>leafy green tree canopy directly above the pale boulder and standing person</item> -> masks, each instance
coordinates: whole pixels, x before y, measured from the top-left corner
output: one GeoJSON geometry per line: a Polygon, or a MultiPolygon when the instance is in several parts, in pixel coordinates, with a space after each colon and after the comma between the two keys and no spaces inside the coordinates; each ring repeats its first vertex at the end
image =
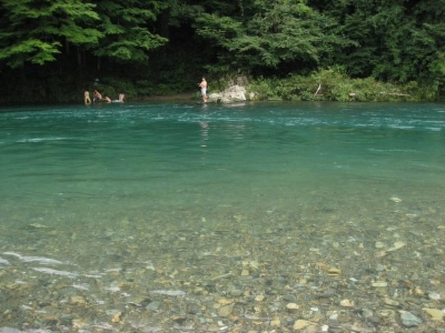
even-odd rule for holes
{"type": "Polygon", "coordinates": [[[203,14],[196,19],[196,33],[223,49],[220,59],[244,70],[318,63],[320,17],[305,1],[255,0],[246,12],[251,14],[203,14]]]}

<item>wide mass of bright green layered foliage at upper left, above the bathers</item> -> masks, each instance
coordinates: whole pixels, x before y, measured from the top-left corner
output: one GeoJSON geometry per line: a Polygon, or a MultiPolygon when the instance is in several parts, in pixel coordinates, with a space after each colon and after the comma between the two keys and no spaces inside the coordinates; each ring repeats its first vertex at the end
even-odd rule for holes
{"type": "Polygon", "coordinates": [[[71,43],[100,57],[138,62],[167,39],[150,31],[162,1],[4,0],[0,59],[8,66],[57,60],[71,43]]]}

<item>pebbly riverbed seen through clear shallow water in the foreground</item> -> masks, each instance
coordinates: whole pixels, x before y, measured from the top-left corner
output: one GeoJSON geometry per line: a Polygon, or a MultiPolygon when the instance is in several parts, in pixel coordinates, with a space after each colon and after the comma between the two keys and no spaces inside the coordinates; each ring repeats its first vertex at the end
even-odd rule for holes
{"type": "Polygon", "coordinates": [[[224,215],[184,214],[181,228],[119,222],[103,227],[115,230],[105,243],[78,235],[69,261],[58,259],[71,237],[53,240],[57,256],[1,252],[2,293],[13,303],[0,313],[18,333],[24,320],[77,332],[427,332],[443,323],[440,235],[405,231],[427,226],[416,219],[402,228],[335,216],[320,226],[334,209],[291,226],[293,215],[252,215],[257,228],[239,214],[228,228],[224,215]]]}

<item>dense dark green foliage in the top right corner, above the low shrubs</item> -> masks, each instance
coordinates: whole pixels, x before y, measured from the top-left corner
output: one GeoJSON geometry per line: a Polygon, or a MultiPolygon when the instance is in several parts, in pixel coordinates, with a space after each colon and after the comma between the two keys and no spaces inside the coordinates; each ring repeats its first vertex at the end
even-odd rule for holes
{"type": "Polygon", "coordinates": [[[352,77],[431,83],[429,65],[444,50],[444,0],[335,1],[320,10],[351,41],[334,45],[329,64],[345,66],[352,77]]]}

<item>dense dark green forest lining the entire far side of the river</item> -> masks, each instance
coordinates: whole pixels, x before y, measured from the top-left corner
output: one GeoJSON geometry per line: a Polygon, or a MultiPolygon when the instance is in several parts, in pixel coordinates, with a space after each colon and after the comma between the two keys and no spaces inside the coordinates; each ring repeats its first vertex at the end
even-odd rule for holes
{"type": "Polygon", "coordinates": [[[0,98],[197,92],[202,75],[212,92],[242,75],[262,98],[438,101],[444,18],[445,0],[1,0],[0,98]]]}

